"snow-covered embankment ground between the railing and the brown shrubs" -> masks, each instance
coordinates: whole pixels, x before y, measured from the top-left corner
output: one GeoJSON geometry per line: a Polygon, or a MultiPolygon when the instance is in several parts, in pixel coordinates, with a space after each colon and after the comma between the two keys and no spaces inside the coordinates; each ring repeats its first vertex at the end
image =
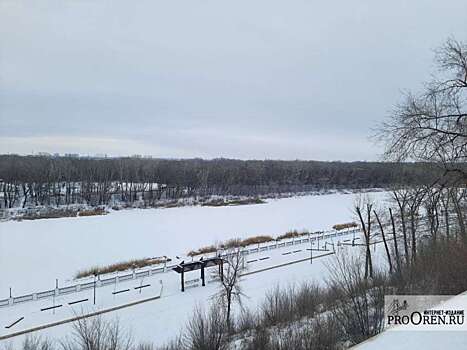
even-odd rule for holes
{"type": "MultiPolygon", "coordinates": [[[[327,240],[321,239],[319,248],[323,249],[326,241],[335,243],[337,247],[338,241],[348,241],[352,237],[353,234],[347,234],[328,238],[327,240]]],[[[327,246],[331,250],[330,246],[327,246]]],[[[310,256],[310,251],[307,248],[309,247],[309,243],[301,243],[250,254],[246,257],[247,272],[260,271],[264,268],[277,266],[286,262],[308,258],[310,256]],[[264,257],[268,257],[268,259],[260,260],[260,258],[264,257]],[[248,261],[253,260],[256,261],[248,263],[248,261]]],[[[317,247],[318,242],[315,241],[314,248],[317,247]]],[[[378,256],[379,252],[382,252],[381,246],[375,246],[374,249],[377,251],[375,254],[376,256],[378,256]]],[[[338,254],[342,252],[361,254],[362,247],[340,246],[338,254]]],[[[328,267],[332,264],[332,260],[335,259],[335,255],[318,257],[319,255],[327,253],[329,252],[314,251],[313,256],[315,259],[312,264],[310,264],[309,261],[302,261],[292,265],[246,275],[241,281],[242,290],[245,294],[244,305],[256,308],[264,299],[265,293],[273,289],[276,285],[286,287],[293,283],[301,283],[304,281],[323,283],[328,273],[328,267]]],[[[208,280],[210,279],[212,269],[213,268],[206,274],[208,280]]],[[[199,271],[188,273],[186,281],[196,278],[199,278],[199,271]]],[[[145,278],[144,281],[130,280],[120,282],[116,285],[98,288],[96,306],[93,306],[92,302],[93,289],[56,297],[55,299],[48,298],[39,301],[25,302],[0,309],[0,336],[43,324],[61,321],[83,312],[88,313],[94,310],[107,309],[128,302],[161,295],[160,299],[114,311],[105,316],[118,318],[122,325],[131,329],[134,338],[138,341],[151,341],[156,344],[161,344],[178,335],[178,332],[184,326],[196,305],[206,306],[212,302],[212,298],[218,288],[217,282],[208,281],[205,287],[197,286],[194,288],[187,288],[186,291],[182,293],[180,291],[179,275],[174,271],[168,271],[167,273],[156,274],[145,278]],[[142,284],[150,284],[150,286],[143,289],[140,294],[134,288],[142,284]],[[116,295],[112,294],[112,292],[126,289],[129,289],[129,291],[116,295]],[[68,305],[69,302],[83,299],[88,299],[88,301],[73,306],[68,305]],[[55,312],[52,310],[40,311],[42,308],[53,305],[63,306],[56,309],[55,312]],[[4,328],[4,326],[13,323],[20,317],[24,317],[24,320],[11,329],[4,328]]],[[[50,338],[60,338],[70,331],[70,327],[71,324],[68,323],[48,328],[41,331],[40,334],[50,338]]],[[[19,340],[21,340],[21,337],[14,338],[13,341],[19,340]]],[[[6,340],[5,342],[8,341],[10,340],[6,340]]]]}

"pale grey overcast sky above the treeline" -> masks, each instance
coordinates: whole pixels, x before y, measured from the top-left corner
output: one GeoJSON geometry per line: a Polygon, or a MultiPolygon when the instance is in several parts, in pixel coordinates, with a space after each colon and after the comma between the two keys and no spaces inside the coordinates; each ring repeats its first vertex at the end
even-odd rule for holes
{"type": "Polygon", "coordinates": [[[0,153],[374,160],[466,0],[0,0],[0,153]]]}

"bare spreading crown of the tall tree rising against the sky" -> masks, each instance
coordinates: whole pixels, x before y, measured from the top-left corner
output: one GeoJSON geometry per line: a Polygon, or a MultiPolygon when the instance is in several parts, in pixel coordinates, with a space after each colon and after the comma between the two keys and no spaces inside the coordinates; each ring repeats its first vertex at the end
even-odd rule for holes
{"type": "Polygon", "coordinates": [[[435,162],[443,184],[467,180],[467,44],[448,39],[436,52],[437,77],[406,94],[380,127],[388,159],[435,162]]]}

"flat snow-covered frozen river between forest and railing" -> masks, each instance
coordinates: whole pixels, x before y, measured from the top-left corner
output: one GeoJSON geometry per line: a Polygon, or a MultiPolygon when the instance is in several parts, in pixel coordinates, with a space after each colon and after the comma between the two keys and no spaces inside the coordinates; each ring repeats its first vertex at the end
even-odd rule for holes
{"type": "MultiPolygon", "coordinates": [[[[134,209],[106,216],[0,223],[0,298],[50,289],[55,279],[120,260],[184,255],[233,237],[312,231],[354,220],[354,194],[268,200],[236,207],[134,209]]],[[[384,193],[371,193],[382,197],[384,193]]]]}

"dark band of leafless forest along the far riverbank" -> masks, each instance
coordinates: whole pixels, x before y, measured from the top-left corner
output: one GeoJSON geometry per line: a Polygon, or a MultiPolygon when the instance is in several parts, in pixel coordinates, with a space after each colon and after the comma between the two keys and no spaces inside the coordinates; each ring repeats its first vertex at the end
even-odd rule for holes
{"type": "Polygon", "coordinates": [[[258,196],[430,181],[425,163],[0,155],[2,208],[258,196]]]}

